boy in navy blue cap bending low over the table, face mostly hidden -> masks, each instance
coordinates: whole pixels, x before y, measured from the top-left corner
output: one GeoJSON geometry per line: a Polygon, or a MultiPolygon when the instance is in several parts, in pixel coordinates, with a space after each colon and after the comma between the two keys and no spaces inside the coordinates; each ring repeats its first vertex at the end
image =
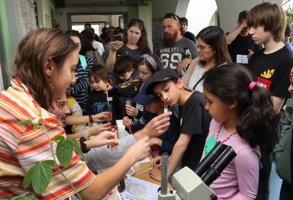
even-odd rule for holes
{"type": "MultiPolygon", "coordinates": [[[[131,120],[129,120],[128,117],[123,118],[123,125],[125,125],[127,128],[128,125],[130,125],[132,132],[143,129],[144,126],[149,123],[149,121],[164,113],[164,102],[162,102],[162,100],[156,94],[145,94],[145,89],[151,82],[152,79],[149,79],[147,82],[145,82],[140,93],[136,95],[133,99],[134,102],[140,105],[144,105],[146,109],[139,122],[137,122],[135,125],[132,125],[131,120]]],[[[168,131],[158,137],[151,138],[149,140],[151,146],[150,154],[153,156],[153,158],[160,156],[162,152],[167,152],[169,153],[169,155],[171,155],[174,144],[178,140],[179,135],[180,126],[178,123],[178,119],[174,114],[172,114],[170,116],[170,126],[168,128],[168,131]]]]}

